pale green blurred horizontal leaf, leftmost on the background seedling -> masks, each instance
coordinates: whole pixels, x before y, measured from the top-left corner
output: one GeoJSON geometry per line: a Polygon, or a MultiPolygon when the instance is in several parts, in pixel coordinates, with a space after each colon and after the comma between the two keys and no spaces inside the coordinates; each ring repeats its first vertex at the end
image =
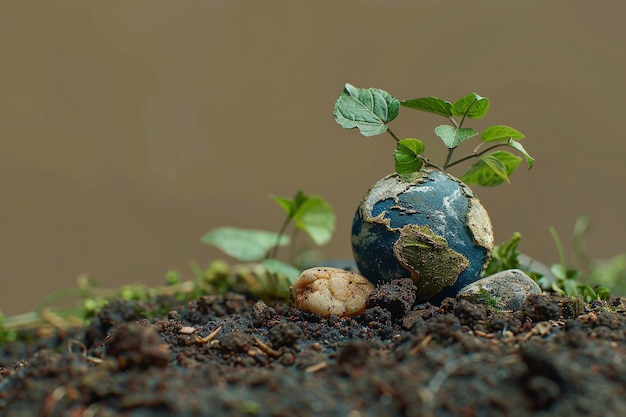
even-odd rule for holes
{"type": "Polygon", "coordinates": [[[279,238],[278,233],[226,226],[211,230],[201,240],[241,262],[259,261],[277,244],[286,246],[290,241],[288,236],[279,238]]]}

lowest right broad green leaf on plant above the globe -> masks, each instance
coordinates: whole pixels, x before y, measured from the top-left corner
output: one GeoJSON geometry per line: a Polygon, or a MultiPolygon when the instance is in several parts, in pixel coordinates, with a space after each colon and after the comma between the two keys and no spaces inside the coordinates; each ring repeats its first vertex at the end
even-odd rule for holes
{"type": "Polygon", "coordinates": [[[509,177],[522,158],[506,151],[497,151],[483,156],[459,177],[466,184],[493,187],[509,181],[509,177]]]}

